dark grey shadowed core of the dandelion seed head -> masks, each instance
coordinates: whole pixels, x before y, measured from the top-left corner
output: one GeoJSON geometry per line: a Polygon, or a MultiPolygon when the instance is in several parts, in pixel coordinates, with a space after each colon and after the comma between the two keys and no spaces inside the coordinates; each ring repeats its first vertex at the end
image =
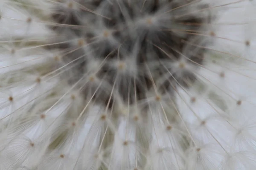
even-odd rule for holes
{"type": "MultiPolygon", "coordinates": [[[[116,99],[129,103],[143,100],[152,88],[157,88],[160,95],[172,94],[177,85],[189,88],[195,76],[189,71],[176,74],[170,63],[186,56],[189,58],[186,62],[198,67],[205,52],[204,48],[195,47],[195,44],[206,44],[204,37],[194,33],[206,29],[204,23],[210,21],[210,13],[207,4],[194,9],[205,8],[204,14],[182,8],[195,4],[190,3],[187,0],[80,0],[63,7],[60,1],[52,14],[60,26],[52,29],[64,40],[79,39],[79,42],[52,48],[64,51],[64,64],[76,60],[65,75],[69,83],[72,85],[87,74],[84,81],[89,79],[89,83],[80,85],[84,97],[110,102],[110,108],[116,99]],[[75,5],[79,10],[72,10],[75,5]],[[93,62],[98,66],[103,64],[90,77],[88,66],[93,62]],[[119,66],[113,67],[114,62],[119,62],[119,66]],[[125,67],[133,69],[126,71],[125,67]]],[[[183,66],[180,64],[180,68],[183,66]]]]}

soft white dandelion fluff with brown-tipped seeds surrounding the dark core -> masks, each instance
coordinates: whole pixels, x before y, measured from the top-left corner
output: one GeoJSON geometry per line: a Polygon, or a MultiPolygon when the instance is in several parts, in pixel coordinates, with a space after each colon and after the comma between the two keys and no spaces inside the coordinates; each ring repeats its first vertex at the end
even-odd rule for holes
{"type": "MultiPolygon", "coordinates": [[[[84,0],[85,4],[89,1],[84,0]]],[[[119,1],[108,3],[120,3],[122,9],[124,4],[119,1]]],[[[150,6],[146,1],[150,0],[145,0],[143,8],[150,6]]],[[[159,2],[166,3],[166,0],[159,2]]],[[[193,44],[184,40],[183,43],[194,46],[193,50],[184,49],[175,62],[161,61],[166,73],[147,91],[145,99],[131,104],[121,101],[114,89],[120,87],[126,76],[132,80],[125,79],[124,87],[133,84],[142,72],[149,78],[155,76],[151,71],[157,68],[155,63],[149,63],[145,70],[137,69],[134,56],[139,53],[139,45],[135,44],[131,54],[127,53],[131,56],[108,61],[108,67],[115,71],[113,87],[98,75],[106,61],[93,54],[87,54],[87,63],[82,68],[87,69],[86,74],[76,79],[76,74],[70,76],[66,72],[78,67],[77,62],[84,56],[64,62],[61,54],[78,49],[90,51],[93,44],[81,35],[65,34],[77,49],[46,49],[47,40],[56,37],[62,40],[49,26],[63,28],[62,31],[72,27],[45,20],[56,4],[81,19],[81,8],[90,13],[87,17],[106,14],[108,8],[101,6],[99,11],[93,11],[81,7],[79,0],[2,0],[0,170],[254,170],[256,0],[202,2],[209,3],[205,14],[219,12],[217,19],[205,23],[206,31],[190,34],[203,36],[211,43],[203,46],[204,41],[193,44]],[[23,3],[31,10],[25,10],[23,3]],[[36,10],[43,17],[36,16],[36,10]],[[196,54],[201,48],[208,50],[203,62],[192,63],[186,54],[196,54]],[[175,74],[182,79],[187,72],[195,74],[197,79],[190,88],[173,77],[175,74]],[[70,85],[67,77],[73,77],[76,82],[70,85]],[[163,94],[159,83],[166,77],[173,78],[177,85],[170,93],[163,94]],[[84,88],[87,86],[90,88],[84,88]],[[107,104],[95,102],[100,92],[118,98],[115,100],[118,107],[111,108],[111,97],[107,104]]],[[[188,3],[192,6],[187,12],[196,15],[200,8],[193,1],[188,3]]],[[[165,8],[152,16],[140,16],[134,25],[127,19],[127,29],[131,33],[133,29],[147,29],[154,34],[169,17],[164,11],[165,8]]],[[[87,21],[83,23],[86,26],[87,21]]],[[[176,28],[172,26],[175,23],[166,24],[189,32],[187,26],[176,28]]],[[[115,30],[105,28],[101,22],[96,23],[96,28],[88,29],[96,35],[93,38],[105,42],[99,51],[118,43],[112,34],[115,30]]],[[[181,37],[185,33],[177,31],[181,37]]],[[[142,31],[139,36],[143,34],[142,31]]]]}

